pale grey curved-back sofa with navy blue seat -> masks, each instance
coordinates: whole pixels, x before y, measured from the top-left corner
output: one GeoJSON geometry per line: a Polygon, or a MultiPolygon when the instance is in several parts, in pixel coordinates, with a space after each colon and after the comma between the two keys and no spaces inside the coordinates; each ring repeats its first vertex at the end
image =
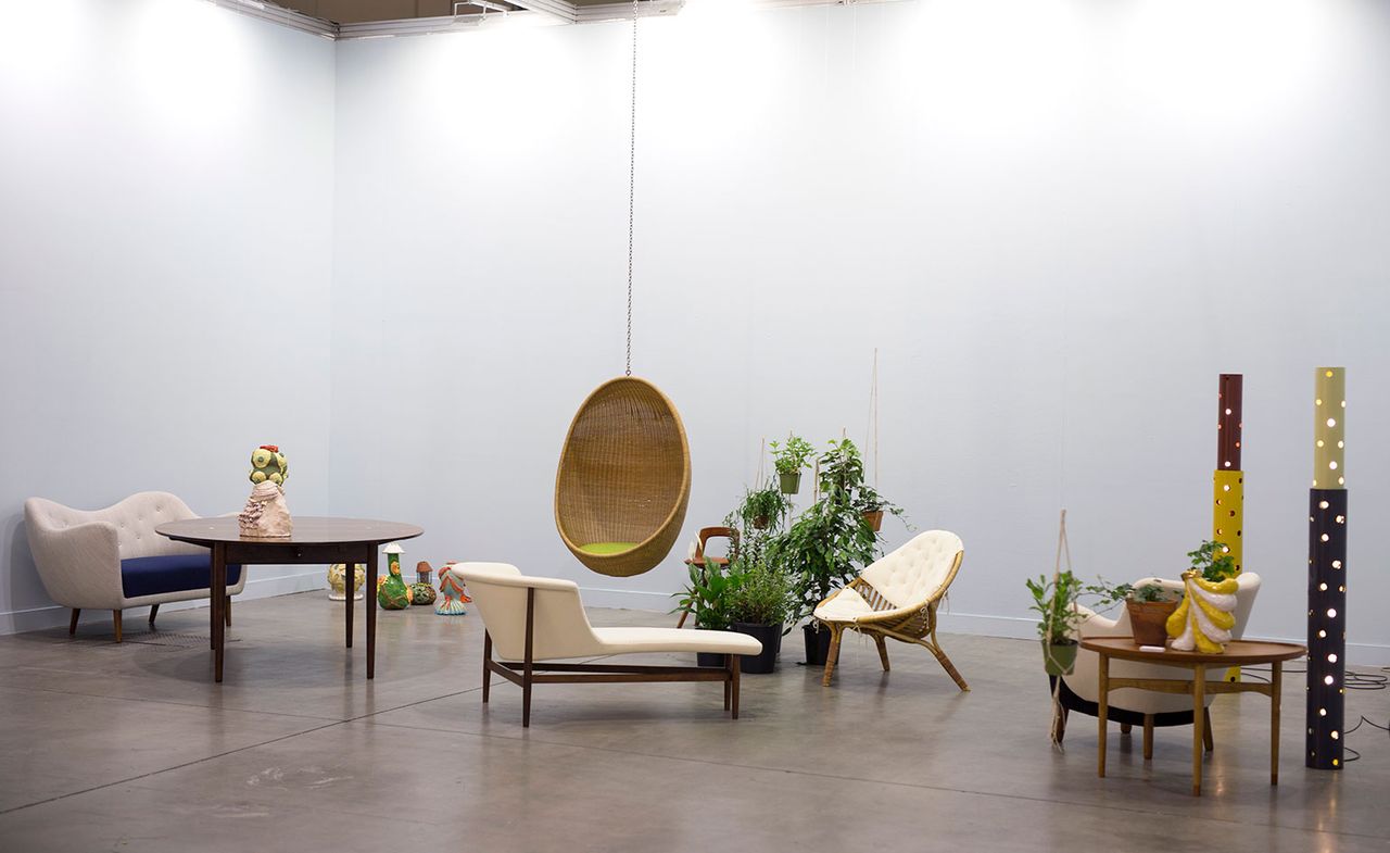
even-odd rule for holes
{"type": "MultiPolygon", "coordinates": [[[[43,589],[57,604],[72,608],[68,633],[76,632],[83,608],[110,609],[115,641],[120,643],[122,609],[152,605],[153,625],[160,604],[207,598],[206,575],[202,576],[202,586],[154,594],[126,596],[122,584],[122,561],[179,555],[186,558],[182,562],[207,558],[206,548],[175,543],[154,532],[164,522],[186,518],[197,518],[197,513],[167,491],[142,491],[106,509],[92,511],[72,509],[44,498],[25,501],[24,523],[43,589]]],[[[245,587],[246,572],[240,571],[236,583],[228,586],[228,593],[236,594],[245,587]]]]}

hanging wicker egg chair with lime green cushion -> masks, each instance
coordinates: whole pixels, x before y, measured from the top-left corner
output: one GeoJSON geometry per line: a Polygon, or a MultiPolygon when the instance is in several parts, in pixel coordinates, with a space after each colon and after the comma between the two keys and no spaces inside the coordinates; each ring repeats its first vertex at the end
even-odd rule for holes
{"type": "Polygon", "coordinates": [[[628,577],[670,554],[691,497],[691,452],[676,406],[620,376],[580,406],[555,476],[555,526],[580,562],[628,577]]]}

